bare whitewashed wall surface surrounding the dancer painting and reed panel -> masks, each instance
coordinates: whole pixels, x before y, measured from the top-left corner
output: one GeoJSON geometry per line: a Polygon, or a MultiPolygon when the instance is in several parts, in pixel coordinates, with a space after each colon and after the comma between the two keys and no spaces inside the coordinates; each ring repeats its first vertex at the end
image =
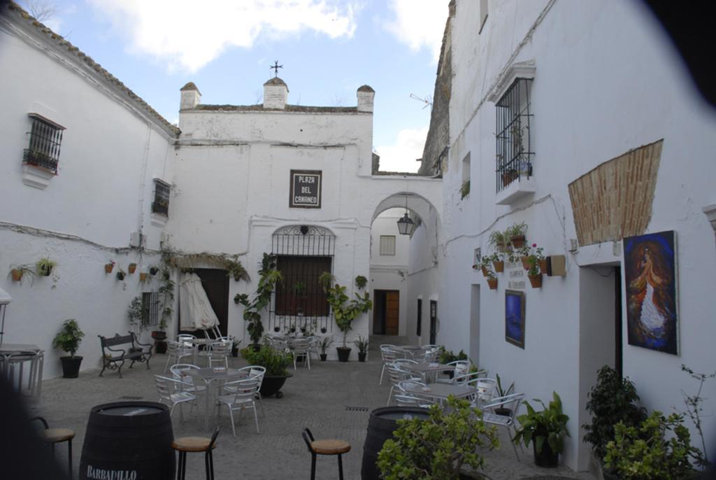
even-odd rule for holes
{"type": "MultiPolygon", "coordinates": [[[[588,277],[579,272],[580,266],[620,263],[621,248],[609,243],[569,254],[566,244],[576,233],[567,185],[606,160],[664,139],[647,232],[677,231],[681,355],[627,345],[623,309],[624,374],[637,384],[648,408],[682,408],[680,390],[693,391],[696,385],[680,365],[707,372],[716,360],[710,347],[716,325],[707,301],[710,272],[716,267],[714,234],[701,211],[715,200],[711,183],[716,164],[710,159],[716,148],[716,118],[695,96],[651,17],[635,4],[490,1],[481,34],[474,28],[477,19],[478,2],[458,1],[450,169],[444,180],[447,258],[439,304],[445,337],[440,340],[453,350],[469,346],[470,284],[481,282],[480,365],[515,381],[527,398],[548,400],[556,390],[571,418],[563,461],[573,469],[586,469],[578,426],[584,418],[586,384],[594,373],[583,371],[579,363],[585,333],[580,325],[587,325],[585,305],[590,301],[589,290],[581,288],[588,277]],[[533,34],[523,42],[533,26],[533,34]],[[531,126],[537,191],[512,206],[497,206],[495,107],[486,97],[505,67],[527,60],[536,64],[531,126]],[[460,163],[468,152],[472,188],[470,196],[459,201],[460,163]],[[568,260],[566,277],[545,277],[542,289],[527,283],[524,350],[504,340],[505,274],[498,274],[495,292],[470,269],[473,249],[481,246],[485,251],[490,231],[520,221],[529,225],[529,241],[545,247],[546,254],[565,254],[568,260]]],[[[706,389],[704,396],[714,398],[716,385],[706,389]]],[[[707,446],[715,448],[716,417],[707,418],[705,432],[707,446]]]]}

